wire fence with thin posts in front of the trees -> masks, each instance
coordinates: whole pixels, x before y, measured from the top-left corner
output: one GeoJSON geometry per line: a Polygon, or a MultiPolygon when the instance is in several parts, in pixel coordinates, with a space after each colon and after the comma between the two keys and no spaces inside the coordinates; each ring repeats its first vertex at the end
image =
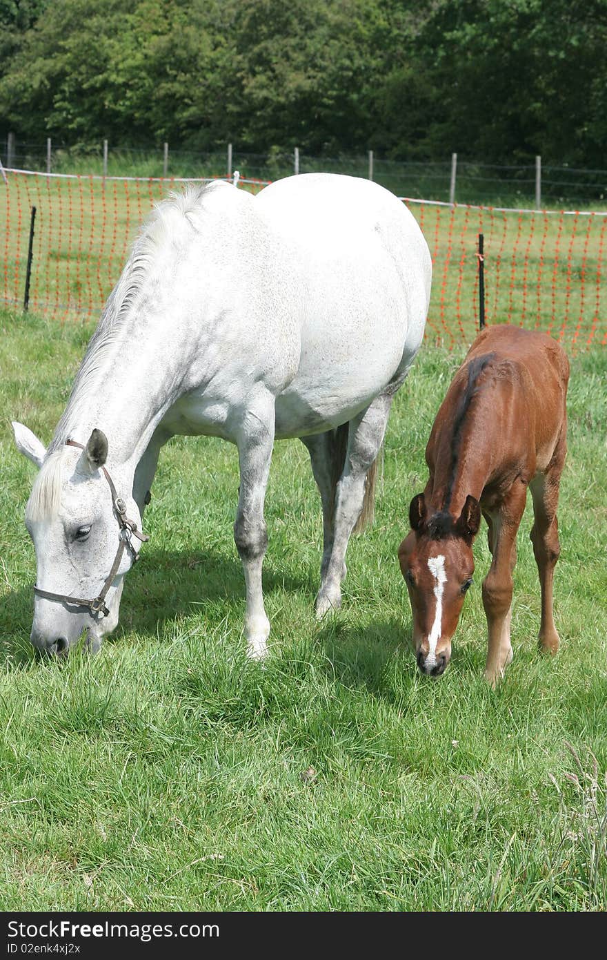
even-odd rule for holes
{"type": "MultiPolygon", "coordinates": [[[[358,156],[308,156],[297,150],[272,148],[266,154],[232,150],[199,152],[108,144],[65,146],[55,140],[28,142],[0,138],[0,161],[5,167],[46,170],[48,173],[134,177],[206,178],[231,176],[279,180],[293,173],[340,173],[376,180],[392,193],[417,199],[485,206],[535,205],[535,162],[491,164],[459,159],[455,197],[452,197],[453,158],[444,160],[388,160],[370,152],[358,156]]],[[[607,170],[585,170],[546,164],[541,167],[541,205],[589,206],[607,209],[607,170]]],[[[540,204],[537,204],[540,205],[540,204]]]]}

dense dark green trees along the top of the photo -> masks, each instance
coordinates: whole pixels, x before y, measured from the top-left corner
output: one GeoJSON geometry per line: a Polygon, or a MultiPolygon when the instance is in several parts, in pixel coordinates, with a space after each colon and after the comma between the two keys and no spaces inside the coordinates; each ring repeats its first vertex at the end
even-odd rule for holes
{"type": "Polygon", "coordinates": [[[607,0],[0,0],[0,134],[604,168],[607,0]]]}

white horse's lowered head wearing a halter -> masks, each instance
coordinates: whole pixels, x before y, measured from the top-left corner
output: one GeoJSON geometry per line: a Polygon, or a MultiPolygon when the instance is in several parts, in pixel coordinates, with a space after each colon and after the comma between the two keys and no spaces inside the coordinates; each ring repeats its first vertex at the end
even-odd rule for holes
{"type": "Polygon", "coordinates": [[[66,654],[85,633],[96,651],[118,623],[124,575],[138,548],[130,533],[141,525],[132,477],[126,468],[113,468],[111,478],[105,471],[101,430],[83,448],[70,442],[47,455],[27,427],[13,428],[17,448],[39,468],[25,514],[37,567],[32,642],[66,654]]]}

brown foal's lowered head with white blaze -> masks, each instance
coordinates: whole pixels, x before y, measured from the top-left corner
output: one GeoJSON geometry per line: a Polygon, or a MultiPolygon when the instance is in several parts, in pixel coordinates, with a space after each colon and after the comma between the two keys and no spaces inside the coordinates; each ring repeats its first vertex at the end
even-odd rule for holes
{"type": "Polygon", "coordinates": [[[472,584],[479,501],[468,496],[456,519],[448,511],[428,516],[424,494],[418,493],[409,506],[409,523],[398,558],[409,590],[415,655],[422,673],[438,677],[451,659],[451,639],[472,584]]]}

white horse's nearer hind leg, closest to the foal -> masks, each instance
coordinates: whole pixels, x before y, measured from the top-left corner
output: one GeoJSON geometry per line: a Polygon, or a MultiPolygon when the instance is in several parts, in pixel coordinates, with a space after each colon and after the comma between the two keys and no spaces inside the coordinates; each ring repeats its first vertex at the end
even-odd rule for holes
{"type": "Polygon", "coordinates": [[[341,580],[350,534],[361,516],[367,470],[373,465],[384,441],[385,424],[392,396],[376,396],[350,421],[345,465],[336,491],[333,546],[329,563],[316,597],[316,616],[321,617],[341,604],[341,580]]]}

